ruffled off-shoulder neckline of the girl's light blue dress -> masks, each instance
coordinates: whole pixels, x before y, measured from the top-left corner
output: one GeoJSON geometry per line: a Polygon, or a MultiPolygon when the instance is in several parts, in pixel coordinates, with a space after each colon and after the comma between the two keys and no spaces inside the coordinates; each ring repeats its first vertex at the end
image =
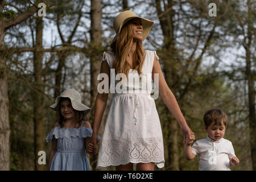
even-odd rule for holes
{"type": "MultiPolygon", "coordinates": [[[[46,137],[46,141],[52,141],[53,135],[55,135],[55,138],[71,138],[71,137],[79,137],[79,138],[86,138],[86,137],[92,137],[93,130],[88,129],[86,127],[79,127],[78,129],[75,128],[67,128],[63,129],[60,126],[55,127],[52,129],[51,133],[49,133],[46,137]]],[[[98,140],[101,140],[101,138],[98,136],[98,140]]]]}

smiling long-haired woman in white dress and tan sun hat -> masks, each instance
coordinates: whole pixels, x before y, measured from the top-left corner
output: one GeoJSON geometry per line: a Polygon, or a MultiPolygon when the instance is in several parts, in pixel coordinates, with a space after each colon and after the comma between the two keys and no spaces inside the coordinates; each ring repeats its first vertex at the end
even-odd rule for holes
{"type": "MultiPolygon", "coordinates": [[[[151,20],[141,18],[132,11],[123,11],[114,19],[117,35],[111,45],[112,52],[104,52],[101,60],[101,73],[108,75],[109,85],[114,76],[114,97],[106,119],[96,168],[115,166],[116,170],[133,170],[133,164],[137,164],[137,170],[141,171],[154,170],[155,165],[159,168],[164,166],[162,129],[155,101],[150,96],[152,80],[158,81],[156,85],[160,96],[179,123],[184,141],[192,142],[195,138],[164,80],[156,52],[143,49],[142,41],[146,39],[152,24],[151,20]],[[120,82],[118,73],[123,73],[120,82]],[[158,77],[155,78],[154,73],[158,77]],[[147,79],[148,75],[150,79],[147,79]]],[[[113,87],[110,88],[110,93],[113,93],[111,90],[113,87]]],[[[98,90],[96,97],[93,135],[88,148],[93,154],[97,153],[97,134],[108,94],[98,90]]]]}

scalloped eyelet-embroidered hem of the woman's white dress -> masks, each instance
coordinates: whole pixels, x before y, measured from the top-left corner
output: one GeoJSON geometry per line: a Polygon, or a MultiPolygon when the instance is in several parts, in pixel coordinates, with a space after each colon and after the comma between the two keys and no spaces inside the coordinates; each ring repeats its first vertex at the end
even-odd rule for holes
{"type": "Polygon", "coordinates": [[[164,166],[163,140],[161,138],[102,141],[96,168],[119,166],[127,163],[151,163],[164,166]]]}

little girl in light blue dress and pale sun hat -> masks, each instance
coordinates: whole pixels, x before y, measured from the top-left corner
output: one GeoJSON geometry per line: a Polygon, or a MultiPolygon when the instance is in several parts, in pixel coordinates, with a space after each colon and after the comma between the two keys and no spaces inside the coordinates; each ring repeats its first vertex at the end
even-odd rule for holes
{"type": "Polygon", "coordinates": [[[81,103],[81,95],[75,89],[64,90],[50,107],[57,111],[57,122],[46,137],[47,142],[52,141],[48,169],[89,171],[85,149],[92,137],[92,128],[84,117],[90,108],[81,103]]]}

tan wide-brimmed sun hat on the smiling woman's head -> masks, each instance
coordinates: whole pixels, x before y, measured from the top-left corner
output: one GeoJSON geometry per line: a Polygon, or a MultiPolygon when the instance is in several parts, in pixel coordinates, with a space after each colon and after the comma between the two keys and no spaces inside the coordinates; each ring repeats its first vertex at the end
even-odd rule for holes
{"type": "Polygon", "coordinates": [[[141,19],[141,23],[143,26],[143,34],[142,34],[142,41],[143,41],[147,38],[154,22],[152,22],[149,19],[139,17],[137,14],[133,13],[133,11],[130,11],[130,10],[123,11],[122,13],[117,15],[117,17],[115,17],[113,22],[115,33],[117,33],[118,35],[119,32],[121,31],[121,28],[125,25],[125,23],[127,23],[129,20],[133,18],[141,19]]]}

